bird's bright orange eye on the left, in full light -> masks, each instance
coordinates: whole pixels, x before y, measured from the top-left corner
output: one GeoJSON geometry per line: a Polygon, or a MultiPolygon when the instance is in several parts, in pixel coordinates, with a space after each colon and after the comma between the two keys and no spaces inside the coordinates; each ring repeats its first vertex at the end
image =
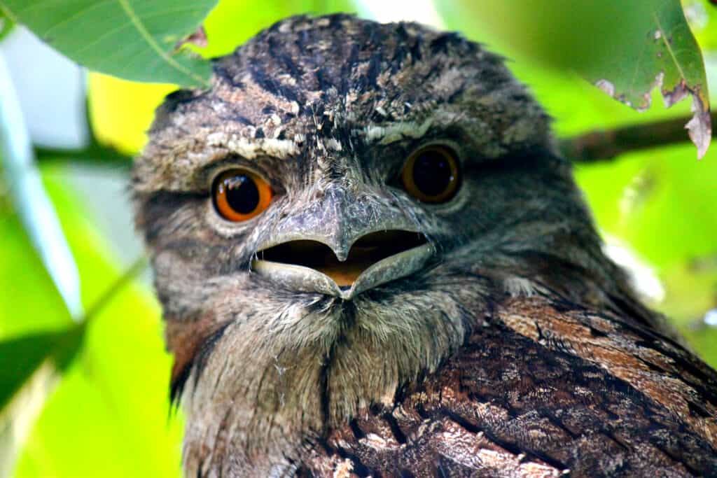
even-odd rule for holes
{"type": "Polygon", "coordinates": [[[224,219],[246,221],[261,214],[271,202],[273,191],[257,173],[232,169],[219,175],[212,186],[214,207],[224,219]]]}

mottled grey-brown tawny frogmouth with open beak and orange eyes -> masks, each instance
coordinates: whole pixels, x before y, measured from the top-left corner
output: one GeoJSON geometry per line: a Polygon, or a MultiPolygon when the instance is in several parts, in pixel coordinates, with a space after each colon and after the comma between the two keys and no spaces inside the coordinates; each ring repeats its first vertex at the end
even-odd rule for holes
{"type": "Polygon", "coordinates": [[[502,57],[303,15],[212,70],[130,179],[186,476],[717,476],[717,373],[502,57]]]}

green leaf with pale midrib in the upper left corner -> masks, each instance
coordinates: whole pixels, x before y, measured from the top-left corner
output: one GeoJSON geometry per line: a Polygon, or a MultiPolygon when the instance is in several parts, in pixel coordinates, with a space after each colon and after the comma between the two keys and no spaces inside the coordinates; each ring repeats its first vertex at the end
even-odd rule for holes
{"type": "Polygon", "coordinates": [[[176,45],[217,0],[0,0],[0,7],[70,59],[127,80],[206,87],[212,67],[176,45]]]}

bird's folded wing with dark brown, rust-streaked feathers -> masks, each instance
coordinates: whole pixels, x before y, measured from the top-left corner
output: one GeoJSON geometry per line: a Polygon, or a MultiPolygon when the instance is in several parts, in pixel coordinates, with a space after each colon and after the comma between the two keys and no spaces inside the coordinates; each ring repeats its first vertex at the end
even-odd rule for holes
{"type": "Polygon", "coordinates": [[[508,298],[438,373],[307,450],[314,476],[717,476],[717,374],[629,317],[508,298]]]}

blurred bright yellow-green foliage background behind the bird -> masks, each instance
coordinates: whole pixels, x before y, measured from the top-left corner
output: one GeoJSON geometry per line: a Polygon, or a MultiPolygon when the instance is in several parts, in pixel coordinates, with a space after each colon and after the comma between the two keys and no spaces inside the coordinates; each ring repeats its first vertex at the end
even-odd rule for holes
{"type": "MultiPolygon", "coordinates": [[[[628,5],[624,8],[630,9],[628,5]]],[[[717,104],[717,7],[707,0],[684,0],[683,7],[717,104]]],[[[548,9],[545,14],[523,11],[515,1],[426,0],[409,7],[369,0],[221,0],[204,21],[206,46],[189,48],[203,57],[227,54],[285,16],[331,11],[381,21],[422,21],[460,30],[486,44],[511,59],[509,67],[553,116],[561,138],[690,114],[689,100],[667,110],[657,90],[654,106],[645,113],[612,100],[565,61],[576,49],[591,47],[566,48],[559,19],[548,9]]],[[[617,18],[607,21],[614,21],[614,27],[604,35],[630,28],[617,18]]],[[[73,87],[65,83],[61,88],[54,63],[34,64],[39,46],[32,42],[37,41],[28,39],[22,27],[10,29],[6,16],[0,22],[0,55],[10,64],[23,102],[42,191],[57,212],[77,265],[84,310],[95,310],[87,314],[86,325],[75,325],[77,314],[73,318],[68,312],[67,300],[28,234],[25,204],[11,201],[13,176],[6,174],[0,182],[0,367],[18,363],[21,357],[7,344],[16,345],[13,340],[28,334],[62,334],[68,328],[86,333],[74,360],[56,360],[54,368],[39,366],[16,396],[4,397],[0,391],[0,398],[9,400],[0,411],[0,477],[177,477],[181,414],[168,405],[171,358],[163,349],[160,310],[146,274],[128,275],[129,284],[117,282],[141,257],[141,246],[132,236],[128,193],[122,186],[128,164],[113,153],[129,156],[141,149],[154,108],[176,86],[77,69],[70,76],[77,77],[72,85],[80,89],[70,91],[73,87]],[[13,55],[19,55],[14,63],[13,55]],[[26,104],[34,94],[23,93],[29,83],[32,91],[44,92],[42,104],[34,106],[39,119],[26,104]],[[72,133],[77,138],[70,140],[69,150],[67,138],[46,132],[38,140],[42,135],[32,130],[44,122],[52,132],[77,118],[79,133],[72,133]],[[98,302],[103,306],[94,307],[98,302]]],[[[582,53],[590,58],[590,52],[582,53]]],[[[652,307],[669,315],[690,345],[717,366],[717,329],[708,325],[717,315],[717,148],[701,161],[695,160],[695,147],[688,142],[653,148],[578,163],[576,176],[616,260],[635,270],[652,307]]],[[[51,347],[43,343],[31,345],[51,347]]]]}

